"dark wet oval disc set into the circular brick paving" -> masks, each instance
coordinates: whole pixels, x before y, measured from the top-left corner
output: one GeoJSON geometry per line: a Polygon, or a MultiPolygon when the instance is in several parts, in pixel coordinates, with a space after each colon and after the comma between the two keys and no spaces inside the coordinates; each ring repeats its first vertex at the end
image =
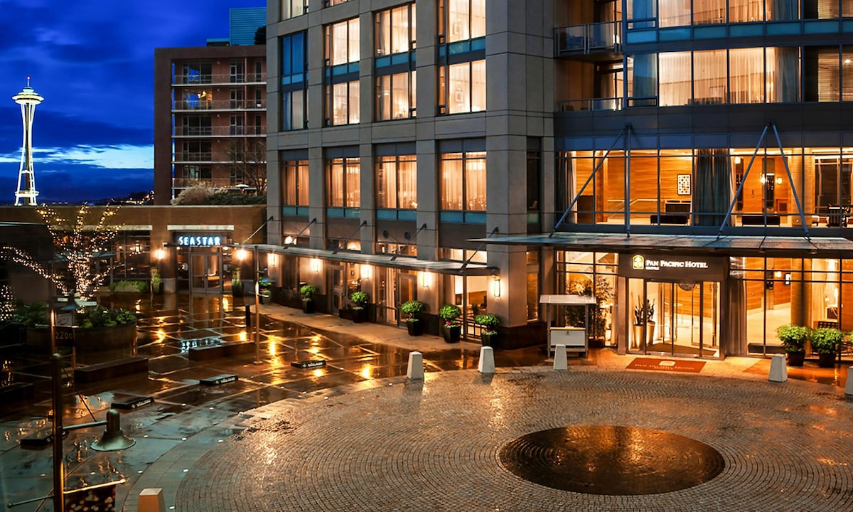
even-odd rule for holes
{"type": "Polygon", "coordinates": [[[613,425],[528,433],[502,447],[501,463],[540,486],[611,495],[680,491],[725,467],[720,452],[695,439],[613,425]]]}

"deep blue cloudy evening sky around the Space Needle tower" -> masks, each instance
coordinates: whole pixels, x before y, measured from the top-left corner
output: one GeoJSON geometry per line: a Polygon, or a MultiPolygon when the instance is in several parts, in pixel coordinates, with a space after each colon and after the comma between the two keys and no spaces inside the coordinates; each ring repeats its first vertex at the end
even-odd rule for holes
{"type": "Polygon", "coordinates": [[[228,38],[229,9],[264,0],[3,0],[0,204],[15,202],[22,129],[12,100],[44,96],[32,145],[38,202],[154,187],[154,48],[228,38]]]}

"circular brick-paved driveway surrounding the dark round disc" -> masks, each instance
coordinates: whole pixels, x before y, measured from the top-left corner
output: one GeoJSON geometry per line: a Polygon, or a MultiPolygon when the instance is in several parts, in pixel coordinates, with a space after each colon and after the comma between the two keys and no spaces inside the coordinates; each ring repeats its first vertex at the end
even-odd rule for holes
{"type": "Polygon", "coordinates": [[[853,404],[804,382],[461,370],[283,400],[216,428],[235,435],[181,462],[179,511],[853,509],[853,404]],[[699,486],[645,496],[555,490],[502,467],[508,441],[572,425],[676,433],[711,445],[726,467],[699,486]]]}

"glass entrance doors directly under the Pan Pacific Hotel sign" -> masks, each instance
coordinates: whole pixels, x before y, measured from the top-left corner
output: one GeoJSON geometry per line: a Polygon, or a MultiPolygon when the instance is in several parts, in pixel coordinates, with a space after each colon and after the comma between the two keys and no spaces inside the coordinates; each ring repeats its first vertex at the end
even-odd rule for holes
{"type": "Polygon", "coordinates": [[[631,279],[634,319],[629,352],[718,358],[719,282],[631,279]]]}

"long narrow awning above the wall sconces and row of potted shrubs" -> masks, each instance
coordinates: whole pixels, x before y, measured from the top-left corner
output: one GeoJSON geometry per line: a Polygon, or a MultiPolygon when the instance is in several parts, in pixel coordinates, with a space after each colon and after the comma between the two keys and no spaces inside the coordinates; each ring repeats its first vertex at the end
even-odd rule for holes
{"type": "Polygon", "coordinates": [[[283,256],[298,256],[299,258],[316,258],[324,261],[340,261],[345,263],[357,263],[359,265],[376,265],[407,271],[434,272],[436,274],[447,274],[451,276],[492,276],[498,274],[496,267],[490,267],[482,263],[461,261],[427,261],[416,259],[402,254],[363,254],[344,250],[338,252],[326,249],[312,249],[310,247],[279,246],[270,244],[235,244],[233,247],[241,247],[253,250],[258,247],[264,253],[275,253],[283,256]]]}

